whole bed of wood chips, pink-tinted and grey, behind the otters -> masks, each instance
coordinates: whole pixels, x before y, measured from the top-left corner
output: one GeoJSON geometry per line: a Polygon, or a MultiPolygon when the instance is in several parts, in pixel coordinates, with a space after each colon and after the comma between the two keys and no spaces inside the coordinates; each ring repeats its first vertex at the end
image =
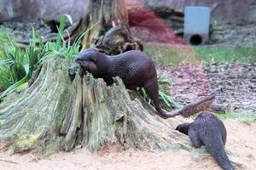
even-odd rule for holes
{"type": "Polygon", "coordinates": [[[178,104],[187,105],[213,93],[217,103],[230,105],[232,111],[256,114],[256,63],[159,68],[172,78],[172,94],[178,104]]]}

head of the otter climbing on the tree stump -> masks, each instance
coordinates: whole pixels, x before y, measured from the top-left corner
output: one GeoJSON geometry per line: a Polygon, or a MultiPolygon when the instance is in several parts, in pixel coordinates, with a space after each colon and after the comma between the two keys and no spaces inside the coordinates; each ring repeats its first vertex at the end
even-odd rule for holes
{"type": "Polygon", "coordinates": [[[89,71],[94,77],[102,77],[106,68],[106,56],[94,48],[81,51],[75,59],[84,71],[89,71]]]}

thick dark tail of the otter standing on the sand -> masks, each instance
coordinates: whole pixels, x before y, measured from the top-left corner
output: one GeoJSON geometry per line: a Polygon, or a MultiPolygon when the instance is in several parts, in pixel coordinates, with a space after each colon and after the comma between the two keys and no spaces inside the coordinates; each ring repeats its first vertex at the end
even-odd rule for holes
{"type": "Polygon", "coordinates": [[[232,166],[229,157],[224,150],[224,144],[220,140],[219,143],[216,143],[216,140],[213,141],[215,141],[215,144],[206,144],[207,151],[224,170],[234,170],[235,168],[232,166]]]}

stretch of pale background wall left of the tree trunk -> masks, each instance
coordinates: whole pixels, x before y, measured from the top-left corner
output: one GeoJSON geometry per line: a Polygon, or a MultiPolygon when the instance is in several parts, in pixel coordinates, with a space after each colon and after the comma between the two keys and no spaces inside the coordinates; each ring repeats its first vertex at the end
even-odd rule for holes
{"type": "Polygon", "coordinates": [[[86,11],[88,0],[0,0],[0,21],[58,20],[61,14],[78,19],[86,11]]]}

